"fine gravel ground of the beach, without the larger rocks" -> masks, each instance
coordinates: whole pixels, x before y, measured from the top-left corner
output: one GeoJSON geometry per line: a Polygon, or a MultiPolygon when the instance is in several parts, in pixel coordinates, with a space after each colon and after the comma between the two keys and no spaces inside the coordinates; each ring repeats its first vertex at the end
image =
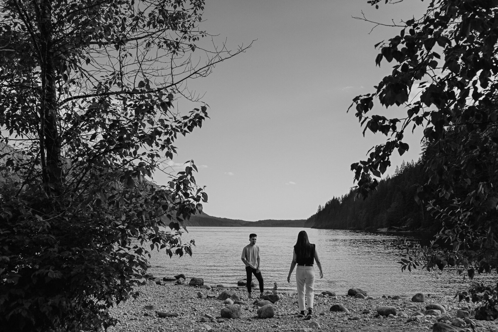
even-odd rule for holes
{"type": "MultiPolygon", "coordinates": [[[[348,296],[320,297],[315,295],[314,316],[311,320],[297,317],[297,295],[295,293],[280,293],[283,299],[274,304],[275,317],[258,319],[257,308],[247,297],[244,287],[237,289],[212,286],[211,290],[203,286],[176,285],[172,282],[162,282],[160,285],[139,286],[135,288],[140,293],[136,300],[130,300],[113,308],[112,314],[120,323],[109,332],[188,332],[188,331],[267,331],[267,332],[415,332],[432,331],[437,322],[437,316],[423,316],[418,320],[406,323],[414,312],[425,312],[425,306],[430,303],[441,304],[453,319],[457,310],[472,313],[473,304],[459,303],[449,297],[427,297],[425,303],[415,303],[411,297],[401,297],[399,300],[377,297],[371,300],[355,299],[348,296]],[[220,311],[226,305],[217,300],[223,291],[237,294],[241,301],[241,318],[220,319],[220,311]],[[198,292],[211,298],[198,298],[198,292]],[[346,313],[330,312],[334,304],[342,304],[349,311],[346,313]],[[150,310],[146,306],[155,306],[150,310]],[[405,313],[405,317],[376,318],[377,308],[393,306],[397,315],[405,313]],[[157,313],[177,314],[177,317],[159,318],[157,313]],[[219,322],[217,322],[219,321],[219,322]]],[[[368,292],[368,290],[367,290],[368,292]]],[[[394,294],[391,294],[394,295],[394,294]]],[[[163,316],[163,315],[161,315],[163,316]]],[[[498,332],[495,322],[474,321],[477,325],[474,331],[498,332]]],[[[458,328],[460,331],[473,331],[470,327],[458,328]]],[[[458,331],[458,330],[456,330],[458,331]]]]}

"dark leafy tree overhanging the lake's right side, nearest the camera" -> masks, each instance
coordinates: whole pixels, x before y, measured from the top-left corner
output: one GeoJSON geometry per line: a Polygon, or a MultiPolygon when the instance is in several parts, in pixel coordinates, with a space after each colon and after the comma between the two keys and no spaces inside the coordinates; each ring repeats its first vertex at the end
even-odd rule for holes
{"type": "MultiPolygon", "coordinates": [[[[380,0],[369,2],[378,6],[380,0]]],[[[423,140],[432,153],[424,160],[429,179],[417,199],[443,221],[436,239],[451,246],[426,248],[421,259],[428,270],[463,267],[472,279],[474,271],[498,268],[498,2],[432,0],[423,17],[393,26],[400,33],[376,45],[375,59],[379,66],[384,59],[394,61],[392,73],[352,104],[364,133],[388,137],[366,161],[352,165],[358,194],[366,197],[375,189],[373,176],[390,166],[395,150],[400,155],[408,150],[405,131],[425,126],[423,140]],[[376,102],[403,106],[406,114],[368,116],[376,102]]],[[[414,262],[406,260],[406,267],[414,262]]],[[[483,298],[478,289],[483,287],[474,288],[472,300],[489,305],[482,317],[497,318],[497,288],[483,298]]]]}

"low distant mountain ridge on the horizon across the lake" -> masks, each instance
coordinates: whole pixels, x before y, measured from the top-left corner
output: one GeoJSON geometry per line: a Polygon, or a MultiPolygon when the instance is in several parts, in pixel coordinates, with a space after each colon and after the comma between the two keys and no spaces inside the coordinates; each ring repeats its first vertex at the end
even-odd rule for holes
{"type": "Polygon", "coordinates": [[[305,219],[301,220],[258,220],[247,221],[240,219],[229,219],[214,217],[202,212],[190,217],[185,221],[186,226],[200,226],[200,227],[310,227],[305,226],[305,219]]]}

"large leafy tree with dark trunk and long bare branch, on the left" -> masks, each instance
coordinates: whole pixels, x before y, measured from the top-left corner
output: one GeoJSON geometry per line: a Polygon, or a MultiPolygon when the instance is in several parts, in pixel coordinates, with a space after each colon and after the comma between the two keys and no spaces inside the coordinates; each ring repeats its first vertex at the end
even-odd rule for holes
{"type": "Polygon", "coordinates": [[[163,165],[207,106],[185,114],[174,103],[200,102],[186,82],[247,47],[202,47],[203,0],[0,6],[0,324],[107,327],[108,308],[145,273],[144,242],[192,254],[182,222],[207,194],[192,161],[178,174],[163,165]]]}

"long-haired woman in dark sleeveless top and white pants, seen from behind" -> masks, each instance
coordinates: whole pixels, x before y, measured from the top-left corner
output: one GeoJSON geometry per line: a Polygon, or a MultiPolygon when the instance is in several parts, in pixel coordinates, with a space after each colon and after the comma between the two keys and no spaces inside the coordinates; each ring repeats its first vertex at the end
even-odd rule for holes
{"type": "Polygon", "coordinates": [[[294,271],[294,266],[297,264],[297,302],[299,304],[301,315],[304,316],[304,293],[306,289],[308,313],[305,320],[310,320],[313,315],[313,299],[315,297],[315,294],[313,293],[313,286],[315,284],[315,268],[313,267],[314,260],[320,269],[321,279],[323,278],[322,264],[320,264],[320,259],[318,258],[318,252],[315,249],[315,245],[309,242],[306,231],[300,231],[297,235],[296,245],[294,246],[294,254],[292,257],[292,263],[290,264],[287,282],[290,283],[290,275],[292,274],[292,271],[294,271]]]}

